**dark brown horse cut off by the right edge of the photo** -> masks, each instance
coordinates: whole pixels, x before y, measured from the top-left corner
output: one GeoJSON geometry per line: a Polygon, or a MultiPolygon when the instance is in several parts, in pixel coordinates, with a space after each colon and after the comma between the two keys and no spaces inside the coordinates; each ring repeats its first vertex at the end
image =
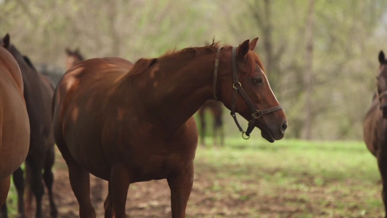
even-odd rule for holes
{"type": "Polygon", "coordinates": [[[364,141],[378,160],[383,184],[382,199],[387,217],[387,60],[383,51],[379,53],[379,62],[377,95],[365,118],[364,141]]]}

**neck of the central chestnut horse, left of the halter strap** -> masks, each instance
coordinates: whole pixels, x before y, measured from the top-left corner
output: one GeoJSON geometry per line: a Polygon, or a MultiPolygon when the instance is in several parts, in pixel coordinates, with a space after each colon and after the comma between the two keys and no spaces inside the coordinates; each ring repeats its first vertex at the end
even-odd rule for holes
{"type": "Polygon", "coordinates": [[[212,99],[214,57],[215,54],[208,54],[179,60],[174,62],[178,63],[176,65],[170,60],[160,60],[154,70],[144,75],[154,77],[150,80],[148,77],[150,84],[144,89],[146,96],[142,100],[152,112],[153,119],[159,119],[161,124],[168,122],[170,129],[178,129],[205,101],[212,99]]]}

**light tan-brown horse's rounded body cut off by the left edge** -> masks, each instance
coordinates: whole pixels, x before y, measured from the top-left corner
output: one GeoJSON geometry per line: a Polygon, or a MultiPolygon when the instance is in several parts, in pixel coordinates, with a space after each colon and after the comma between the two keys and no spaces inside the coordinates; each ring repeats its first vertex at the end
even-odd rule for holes
{"type": "Polygon", "coordinates": [[[0,46],[0,207],[7,199],[10,176],[26,159],[29,148],[29,119],[23,91],[19,65],[0,46]]]}

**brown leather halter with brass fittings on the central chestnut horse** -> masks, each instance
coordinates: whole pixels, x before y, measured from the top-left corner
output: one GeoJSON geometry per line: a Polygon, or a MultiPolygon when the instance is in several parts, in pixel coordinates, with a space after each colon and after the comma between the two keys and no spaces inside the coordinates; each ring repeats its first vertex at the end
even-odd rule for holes
{"type": "MultiPolygon", "coordinates": [[[[212,82],[212,89],[214,90],[214,99],[216,101],[219,101],[218,98],[216,97],[216,79],[217,79],[217,71],[218,71],[218,67],[219,67],[220,50],[221,50],[221,48],[218,48],[216,51],[216,59],[215,59],[215,67],[214,67],[214,80],[212,82]]],[[[278,106],[275,106],[272,108],[267,108],[264,110],[258,110],[257,108],[255,108],[255,106],[253,105],[250,98],[248,98],[245,90],[242,88],[241,83],[238,82],[238,71],[236,69],[236,47],[233,47],[233,50],[232,50],[231,67],[233,70],[233,79],[234,79],[233,89],[234,89],[234,91],[233,91],[233,99],[232,99],[232,103],[231,103],[231,113],[230,114],[233,117],[235,124],[238,127],[239,131],[242,133],[243,139],[249,139],[250,133],[253,131],[253,129],[255,127],[255,120],[256,119],[262,117],[262,115],[264,115],[266,113],[271,113],[271,112],[275,112],[277,110],[282,110],[282,107],[281,107],[281,105],[278,105],[278,106]],[[242,129],[241,125],[239,124],[238,120],[236,119],[236,115],[235,115],[235,101],[236,101],[236,94],[238,92],[245,99],[247,105],[249,106],[250,110],[252,111],[251,118],[248,121],[248,126],[247,126],[246,131],[243,131],[243,129],[242,129]],[[246,135],[247,137],[244,137],[244,135],[246,135]]]]}

